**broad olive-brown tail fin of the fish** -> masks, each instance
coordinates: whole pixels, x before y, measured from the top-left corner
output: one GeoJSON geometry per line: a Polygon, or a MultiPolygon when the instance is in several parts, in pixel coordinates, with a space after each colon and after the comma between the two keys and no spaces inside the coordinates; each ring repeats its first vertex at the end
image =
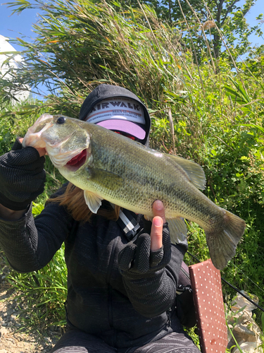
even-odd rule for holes
{"type": "Polygon", "coordinates": [[[237,244],[246,228],[244,220],[225,211],[224,225],[206,232],[210,258],[215,268],[222,270],[236,253],[237,244]]]}

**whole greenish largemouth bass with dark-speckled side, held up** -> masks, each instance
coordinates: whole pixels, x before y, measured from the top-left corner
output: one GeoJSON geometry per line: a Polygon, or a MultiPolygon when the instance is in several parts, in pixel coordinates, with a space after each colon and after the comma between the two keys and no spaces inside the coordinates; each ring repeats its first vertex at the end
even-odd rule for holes
{"type": "Polygon", "coordinates": [[[215,268],[225,268],[235,255],[246,223],[205,196],[203,168],[87,121],[42,114],[28,128],[23,147],[45,148],[58,171],[84,190],[87,206],[96,213],[101,201],[153,217],[161,200],[172,243],[187,237],[185,220],[204,229],[215,268]]]}

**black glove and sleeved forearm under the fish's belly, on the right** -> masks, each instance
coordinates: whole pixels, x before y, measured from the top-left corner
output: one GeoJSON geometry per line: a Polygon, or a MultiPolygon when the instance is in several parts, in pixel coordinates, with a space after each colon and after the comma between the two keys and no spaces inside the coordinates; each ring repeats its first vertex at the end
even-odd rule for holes
{"type": "Polygon", "coordinates": [[[149,234],[139,235],[118,254],[127,296],[134,309],[143,316],[153,317],[170,309],[175,301],[176,283],[165,266],[170,262],[171,244],[168,223],[163,225],[163,246],[151,251],[149,234]]]}

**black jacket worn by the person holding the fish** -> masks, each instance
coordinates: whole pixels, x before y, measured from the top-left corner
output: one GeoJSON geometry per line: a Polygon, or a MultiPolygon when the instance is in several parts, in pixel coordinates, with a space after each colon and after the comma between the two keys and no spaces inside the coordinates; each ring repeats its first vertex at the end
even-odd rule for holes
{"type": "MultiPolygon", "coordinates": [[[[172,246],[170,263],[162,280],[155,283],[155,290],[153,279],[144,283],[151,296],[144,301],[140,298],[136,311],[118,270],[118,253],[128,241],[117,222],[94,215],[91,222],[77,224],[56,203],[46,205],[35,219],[31,210],[18,221],[0,219],[0,246],[19,272],[43,268],[63,241],[70,325],[101,337],[124,352],[173,330],[182,332],[174,306],[182,258],[187,250],[184,244],[172,246]]],[[[137,281],[134,285],[138,285],[137,281]]]]}

